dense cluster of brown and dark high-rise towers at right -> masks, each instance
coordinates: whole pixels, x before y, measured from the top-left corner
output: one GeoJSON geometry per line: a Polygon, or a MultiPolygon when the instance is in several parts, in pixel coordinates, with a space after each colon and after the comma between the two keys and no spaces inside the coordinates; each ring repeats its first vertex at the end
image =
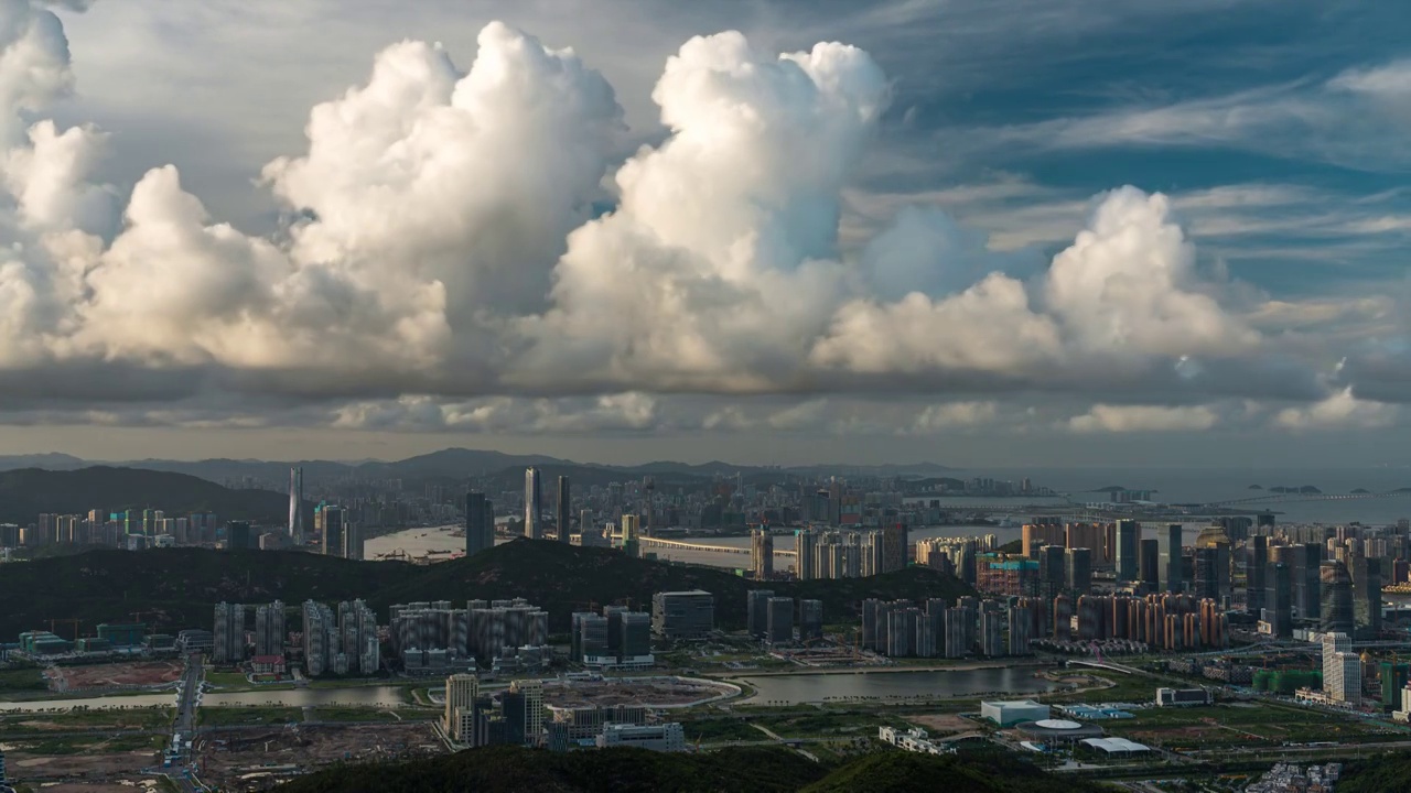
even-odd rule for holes
{"type": "MultiPolygon", "coordinates": [[[[1225,518],[1206,526],[1185,545],[1182,526],[1163,525],[1154,538],[1143,536],[1136,521],[1115,523],[1062,523],[1040,521],[1023,528],[1020,553],[985,550],[976,539],[921,540],[920,564],[952,571],[991,595],[1047,601],[1043,611],[1054,635],[1062,631],[1065,611],[1078,615],[1077,634],[1086,612],[1106,614],[1109,604],[1091,598],[1095,577],[1110,584],[1118,610],[1136,610],[1141,628],[1126,636],[1116,628],[1096,629],[1099,638],[1132,638],[1153,646],[1216,645],[1226,626],[1215,614],[1243,611],[1260,622],[1260,631],[1287,638],[1295,619],[1316,632],[1376,635],[1381,631],[1381,586],[1407,577],[1407,528],[1390,535],[1364,535],[1360,526],[1281,526],[1273,516],[1225,518]],[[1122,600],[1123,595],[1126,600],[1122,600]],[[1170,600],[1164,614],[1149,615],[1150,595],[1187,595],[1170,600]],[[1137,600],[1132,600],[1137,598],[1137,600]],[[1147,605],[1137,605],[1137,601],[1147,605]],[[1206,603],[1209,601],[1209,603],[1206,603]],[[1089,603],[1091,605],[1084,605],[1089,603]],[[1191,617],[1194,615],[1194,617],[1191,617]],[[1177,617],[1178,624],[1170,617],[1177,617]],[[1188,619],[1188,617],[1191,617],[1188,619]],[[1192,639],[1199,636],[1199,639],[1192,639]]],[[[1099,621],[1101,622],[1101,621],[1099,621]]],[[[1094,624],[1092,619],[1088,624],[1094,624]]],[[[1037,635],[1047,635],[1036,629],[1037,635]]]]}

